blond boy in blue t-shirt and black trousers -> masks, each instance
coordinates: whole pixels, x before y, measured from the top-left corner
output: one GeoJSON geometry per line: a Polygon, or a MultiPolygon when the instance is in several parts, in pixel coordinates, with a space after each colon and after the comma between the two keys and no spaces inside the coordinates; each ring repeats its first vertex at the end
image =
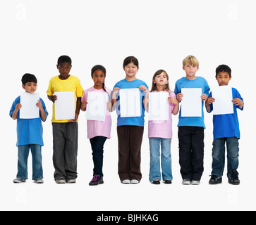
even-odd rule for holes
{"type": "MultiPolygon", "coordinates": [[[[185,77],[178,79],[175,84],[175,94],[178,101],[182,101],[182,88],[201,88],[202,101],[206,101],[209,95],[209,86],[203,77],[195,76],[199,69],[199,62],[195,56],[187,56],[183,60],[185,77]]],[[[201,117],[182,117],[181,110],[178,120],[179,163],[181,166],[182,184],[200,184],[204,158],[204,113],[202,102],[201,117]]]]}

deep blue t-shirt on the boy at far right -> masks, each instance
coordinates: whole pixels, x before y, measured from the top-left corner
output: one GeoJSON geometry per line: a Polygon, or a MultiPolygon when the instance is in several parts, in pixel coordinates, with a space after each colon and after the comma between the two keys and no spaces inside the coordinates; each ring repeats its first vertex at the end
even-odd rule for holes
{"type": "MultiPolygon", "coordinates": [[[[209,97],[212,97],[212,92],[209,94],[209,97]]],[[[240,96],[238,90],[232,88],[232,97],[240,98],[243,101],[243,98],[240,96]]],[[[224,114],[224,115],[214,115],[213,116],[213,135],[214,140],[220,138],[230,138],[236,136],[240,139],[240,129],[238,122],[238,113],[237,108],[239,106],[233,105],[233,113],[232,114],[224,114]]],[[[213,105],[210,105],[210,112],[213,110],[213,105]]],[[[240,109],[240,108],[239,108],[240,109]]],[[[243,110],[241,108],[240,110],[243,110]]]]}

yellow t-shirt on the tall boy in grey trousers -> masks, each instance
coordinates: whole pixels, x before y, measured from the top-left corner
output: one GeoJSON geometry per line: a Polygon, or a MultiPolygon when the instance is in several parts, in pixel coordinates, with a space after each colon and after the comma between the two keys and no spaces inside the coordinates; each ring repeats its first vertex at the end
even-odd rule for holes
{"type": "MultiPolygon", "coordinates": [[[[78,77],[70,75],[68,79],[59,79],[59,76],[52,77],[47,89],[47,95],[53,96],[57,91],[74,91],[75,93],[75,109],[76,98],[83,96],[83,87],[80,84],[78,77]]],[[[55,107],[52,105],[52,120],[51,122],[68,122],[68,120],[55,120],[55,107]]]]}

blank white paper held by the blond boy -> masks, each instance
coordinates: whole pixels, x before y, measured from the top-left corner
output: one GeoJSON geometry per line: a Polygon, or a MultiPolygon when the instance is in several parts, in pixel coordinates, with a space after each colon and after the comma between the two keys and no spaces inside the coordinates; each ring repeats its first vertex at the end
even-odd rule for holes
{"type": "Polygon", "coordinates": [[[181,117],[202,117],[202,89],[181,89],[181,117]]]}

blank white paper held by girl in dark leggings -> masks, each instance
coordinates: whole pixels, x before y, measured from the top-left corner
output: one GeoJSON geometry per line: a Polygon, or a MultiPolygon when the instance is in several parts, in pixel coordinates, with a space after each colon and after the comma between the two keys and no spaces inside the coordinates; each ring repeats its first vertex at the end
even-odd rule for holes
{"type": "Polygon", "coordinates": [[[106,102],[108,95],[102,92],[89,91],[86,105],[87,120],[106,120],[106,102]]]}

